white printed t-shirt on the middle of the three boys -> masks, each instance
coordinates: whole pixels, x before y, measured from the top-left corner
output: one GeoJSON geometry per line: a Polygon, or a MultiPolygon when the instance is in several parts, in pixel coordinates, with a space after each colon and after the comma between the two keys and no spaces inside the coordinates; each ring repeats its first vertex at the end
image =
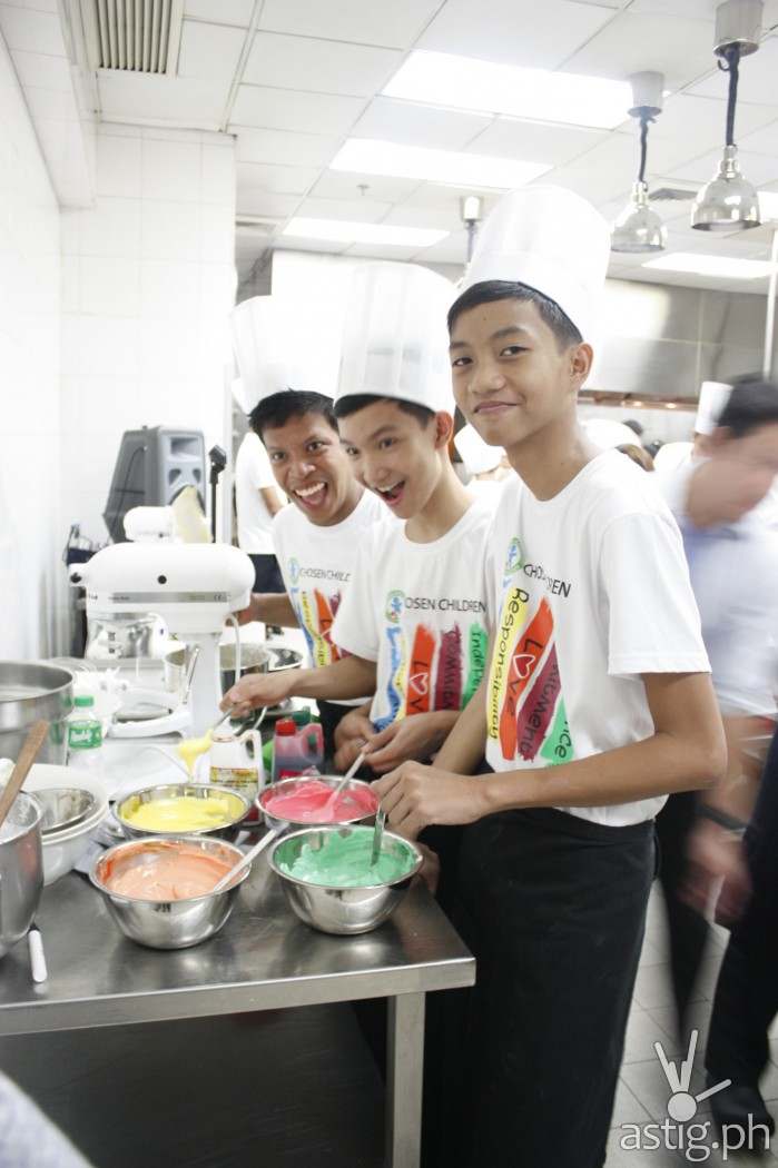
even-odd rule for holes
{"type": "Polygon", "coordinates": [[[459,710],[478,687],[493,617],[491,521],[491,508],[474,501],[431,543],[409,540],[404,523],[374,528],[364,541],[333,637],[377,662],[377,729],[410,714],[459,710]]]}

